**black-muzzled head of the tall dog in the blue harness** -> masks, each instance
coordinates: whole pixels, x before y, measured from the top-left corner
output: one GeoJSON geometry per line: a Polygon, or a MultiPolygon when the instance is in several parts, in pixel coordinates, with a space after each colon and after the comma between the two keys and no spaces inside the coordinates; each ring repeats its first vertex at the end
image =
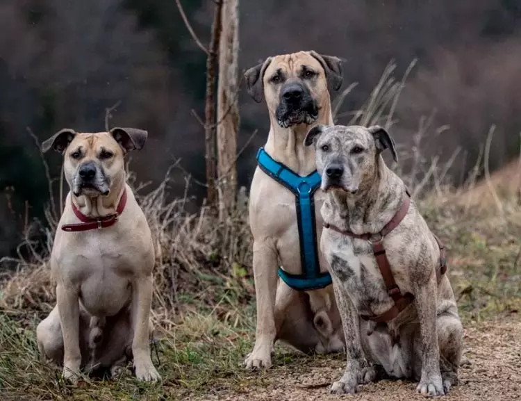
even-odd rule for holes
{"type": "Polygon", "coordinates": [[[283,128],[313,124],[329,104],[329,91],[342,85],[342,61],[315,51],[268,57],[245,73],[249,95],[267,108],[283,128]]]}

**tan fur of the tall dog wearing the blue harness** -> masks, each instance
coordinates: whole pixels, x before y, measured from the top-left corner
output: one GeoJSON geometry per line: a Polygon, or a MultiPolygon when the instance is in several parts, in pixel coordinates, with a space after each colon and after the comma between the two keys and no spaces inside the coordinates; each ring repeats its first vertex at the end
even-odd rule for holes
{"type": "MultiPolygon", "coordinates": [[[[330,81],[337,80],[333,83],[335,89],[340,86],[338,74],[331,70],[326,72],[320,62],[321,57],[309,51],[274,56],[268,58],[265,63],[251,68],[246,74],[250,94],[256,101],[260,101],[264,94],[270,113],[270,132],[265,151],[301,176],[315,170],[314,151],[303,146],[306,132],[316,123],[333,122],[328,74],[330,81]],[[303,79],[303,65],[317,72],[317,76],[309,80],[303,79]],[[280,92],[283,83],[272,82],[272,76],[278,72],[283,74],[284,83],[306,85],[309,95],[318,106],[317,118],[313,124],[301,123],[288,128],[279,124],[276,109],[281,103],[280,92]]],[[[330,57],[328,60],[336,63],[338,59],[330,57]]],[[[338,70],[336,72],[338,73],[338,70]]],[[[322,206],[322,200],[323,194],[318,190],[315,193],[317,212],[322,206]]],[[[269,368],[276,339],[286,341],[303,352],[342,350],[342,327],[332,286],[299,293],[289,288],[282,280],[278,280],[279,265],[292,274],[301,273],[295,195],[258,167],[251,183],[249,221],[254,236],[257,327],[254,350],[245,361],[247,368],[269,368]]],[[[320,213],[316,213],[316,227],[317,238],[320,238],[320,213]]],[[[319,259],[321,270],[324,272],[325,261],[320,252],[319,259]]]]}

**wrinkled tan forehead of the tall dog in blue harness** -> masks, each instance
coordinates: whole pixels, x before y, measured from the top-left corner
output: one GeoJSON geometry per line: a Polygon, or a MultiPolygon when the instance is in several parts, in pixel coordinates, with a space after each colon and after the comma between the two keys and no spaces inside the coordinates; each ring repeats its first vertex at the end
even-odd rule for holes
{"type": "Polygon", "coordinates": [[[299,77],[305,69],[324,74],[324,67],[307,51],[274,56],[270,65],[266,67],[264,82],[268,83],[276,74],[286,76],[286,78],[299,77]]]}

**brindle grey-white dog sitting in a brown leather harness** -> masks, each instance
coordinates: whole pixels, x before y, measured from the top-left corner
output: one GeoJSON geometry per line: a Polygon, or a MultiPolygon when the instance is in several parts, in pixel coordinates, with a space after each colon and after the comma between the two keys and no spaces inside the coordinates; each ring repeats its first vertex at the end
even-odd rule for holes
{"type": "Polygon", "coordinates": [[[463,327],[445,275],[445,249],[403,181],[383,161],[395,143],[379,126],[315,126],[329,263],[344,327],[347,366],[333,393],[379,377],[414,379],[423,395],[456,384],[463,327]]]}

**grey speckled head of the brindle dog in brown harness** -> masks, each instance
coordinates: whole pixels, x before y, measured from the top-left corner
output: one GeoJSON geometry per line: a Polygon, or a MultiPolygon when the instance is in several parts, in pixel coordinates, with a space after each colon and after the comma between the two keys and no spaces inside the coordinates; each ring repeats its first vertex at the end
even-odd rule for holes
{"type": "Polygon", "coordinates": [[[315,146],[317,171],[322,190],[339,190],[348,196],[365,192],[374,183],[381,152],[390,149],[397,161],[395,141],[380,126],[313,127],[304,146],[315,146]]]}

